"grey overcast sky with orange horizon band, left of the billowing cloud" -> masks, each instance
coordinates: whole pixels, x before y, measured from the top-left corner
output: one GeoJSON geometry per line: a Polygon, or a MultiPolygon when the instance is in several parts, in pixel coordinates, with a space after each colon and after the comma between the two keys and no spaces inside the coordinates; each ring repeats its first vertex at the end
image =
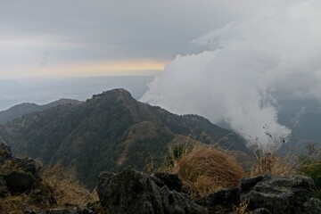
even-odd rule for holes
{"type": "Polygon", "coordinates": [[[192,41],[210,30],[294,1],[267,2],[0,0],[0,78],[151,74],[206,50],[192,41]]]}

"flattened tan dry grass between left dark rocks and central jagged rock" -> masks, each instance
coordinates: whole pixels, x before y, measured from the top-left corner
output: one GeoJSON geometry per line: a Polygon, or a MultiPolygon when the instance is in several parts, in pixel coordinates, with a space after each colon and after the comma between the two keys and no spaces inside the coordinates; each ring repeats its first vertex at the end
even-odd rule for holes
{"type": "Polygon", "coordinates": [[[99,200],[95,190],[90,193],[72,175],[74,173],[66,172],[60,163],[51,169],[46,169],[43,174],[44,182],[53,188],[53,197],[58,206],[73,204],[85,208],[88,202],[99,200]]]}

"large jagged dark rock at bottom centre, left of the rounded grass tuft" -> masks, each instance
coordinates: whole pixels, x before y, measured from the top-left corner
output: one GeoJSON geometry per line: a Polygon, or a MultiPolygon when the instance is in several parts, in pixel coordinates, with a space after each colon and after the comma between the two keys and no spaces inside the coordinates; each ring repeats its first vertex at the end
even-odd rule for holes
{"type": "Polygon", "coordinates": [[[156,185],[151,176],[134,169],[117,175],[101,173],[97,193],[111,213],[207,213],[183,194],[170,191],[167,185],[156,185]]]}

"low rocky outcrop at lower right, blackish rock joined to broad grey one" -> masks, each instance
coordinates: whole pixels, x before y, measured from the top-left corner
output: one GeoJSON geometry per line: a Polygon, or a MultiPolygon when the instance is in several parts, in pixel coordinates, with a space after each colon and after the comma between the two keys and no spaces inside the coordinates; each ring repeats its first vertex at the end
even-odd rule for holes
{"type": "Polygon", "coordinates": [[[321,213],[321,202],[311,198],[315,185],[309,177],[243,177],[239,187],[212,193],[196,202],[212,213],[233,212],[246,204],[251,213],[321,213]]]}

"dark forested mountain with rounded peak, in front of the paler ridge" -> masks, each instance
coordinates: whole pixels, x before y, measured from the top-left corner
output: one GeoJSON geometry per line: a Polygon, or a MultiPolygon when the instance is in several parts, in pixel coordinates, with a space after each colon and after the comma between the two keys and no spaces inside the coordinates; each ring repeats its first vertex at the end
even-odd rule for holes
{"type": "Polygon", "coordinates": [[[177,136],[247,151],[243,138],[208,119],[178,116],[137,102],[124,89],[93,95],[85,103],[33,112],[0,126],[0,137],[16,155],[41,158],[45,164],[62,161],[91,186],[102,170],[144,169],[146,161],[167,152],[177,136]]]}

